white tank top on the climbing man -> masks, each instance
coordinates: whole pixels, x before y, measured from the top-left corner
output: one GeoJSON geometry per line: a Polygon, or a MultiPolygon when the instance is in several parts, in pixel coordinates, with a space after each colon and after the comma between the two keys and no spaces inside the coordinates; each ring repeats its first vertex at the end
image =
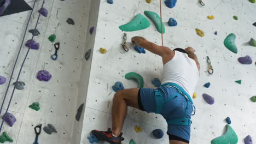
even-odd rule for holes
{"type": "Polygon", "coordinates": [[[171,61],[164,65],[162,84],[172,82],[181,86],[192,97],[199,81],[199,71],[194,59],[187,53],[175,51],[171,61]]]}

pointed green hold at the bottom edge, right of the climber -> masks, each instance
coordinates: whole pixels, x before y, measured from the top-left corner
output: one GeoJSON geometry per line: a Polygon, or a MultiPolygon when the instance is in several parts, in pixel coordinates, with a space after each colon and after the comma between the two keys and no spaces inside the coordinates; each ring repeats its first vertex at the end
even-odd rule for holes
{"type": "Polygon", "coordinates": [[[211,144],[236,144],[238,142],[238,137],[235,131],[230,127],[230,125],[226,125],[226,133],[222,136],[219,136],[211,141],[211,144]]]}

